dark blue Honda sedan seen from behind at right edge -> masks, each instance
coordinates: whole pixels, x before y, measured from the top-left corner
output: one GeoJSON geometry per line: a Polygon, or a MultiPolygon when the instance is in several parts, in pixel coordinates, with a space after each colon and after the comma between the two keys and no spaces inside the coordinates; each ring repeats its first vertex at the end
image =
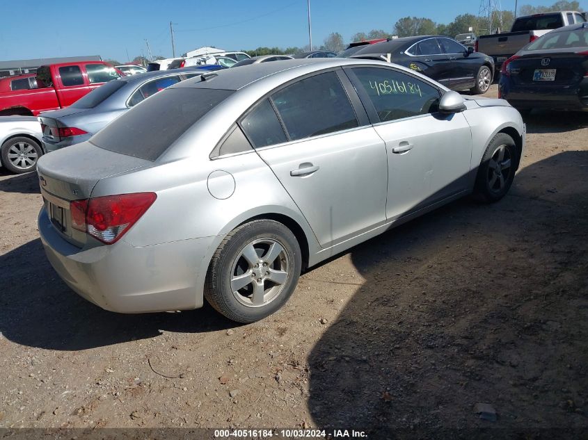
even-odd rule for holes
{"type": "Polygon", "coordinates": [[[499,96],[521,113],[588,111],[588,23],[546,33],[506,60],[499,96]]]}

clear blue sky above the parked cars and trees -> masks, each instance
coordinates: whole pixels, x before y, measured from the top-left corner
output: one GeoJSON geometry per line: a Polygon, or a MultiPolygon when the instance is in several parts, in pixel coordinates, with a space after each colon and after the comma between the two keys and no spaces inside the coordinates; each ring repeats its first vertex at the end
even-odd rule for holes
{"type": "MultiPolygon", "coordinates": [[[[3,0],[2,3],[4,3],[3,0]]],[[[519,0],[518,6],[555,0],[519,0]]],[[[586,6],[585,1],[580,1],[586,6]]],[[[308,44],[306,0],[52,0],[6,1],[2,5],[0,60],[100,55],[120,62],[152,54],[172,56],[169,22],[174,23],[176,56],[205,45],[226,50],[308,44]]],[[[348,42],[357,32],[392,32],[400,17],[429,17],[448,23],[479,11],[480,0],[311,0],[312,44],[331,32],[348,42]]],[[[514,10],[514,0],[502,0],[514,10]]]]}

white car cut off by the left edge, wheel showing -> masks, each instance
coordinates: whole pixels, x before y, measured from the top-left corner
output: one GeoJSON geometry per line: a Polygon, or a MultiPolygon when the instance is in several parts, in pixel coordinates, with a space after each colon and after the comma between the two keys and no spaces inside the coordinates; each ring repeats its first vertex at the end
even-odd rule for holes
{"type": "Polygon", "coordinates": [[[16,174],[35,170],[43,154],[41,136],[34,116],[0,116],[0,166],[16,174]]]}

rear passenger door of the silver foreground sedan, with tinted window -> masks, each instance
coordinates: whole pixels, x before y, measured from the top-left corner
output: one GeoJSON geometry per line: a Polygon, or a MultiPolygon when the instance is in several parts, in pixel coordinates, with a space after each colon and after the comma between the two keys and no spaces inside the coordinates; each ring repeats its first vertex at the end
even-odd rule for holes
{"type": "Polygon", "coordinates": [[[315,74],[274,92],[241,120],[322,247],[386,220],[386,147],[351,92],[342,71],[315,74]]]}

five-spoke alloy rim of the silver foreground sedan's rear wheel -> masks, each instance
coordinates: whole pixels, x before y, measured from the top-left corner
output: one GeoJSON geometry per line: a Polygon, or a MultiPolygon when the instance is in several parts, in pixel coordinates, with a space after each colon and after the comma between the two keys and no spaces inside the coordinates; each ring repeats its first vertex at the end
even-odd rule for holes
{"type": "Polygon", "coordinates": [[[230,286],[246,307],[262,307],[278,298],[289,277],[290,256],[274,238],[248,243],[232,262],[230,286]]]}

